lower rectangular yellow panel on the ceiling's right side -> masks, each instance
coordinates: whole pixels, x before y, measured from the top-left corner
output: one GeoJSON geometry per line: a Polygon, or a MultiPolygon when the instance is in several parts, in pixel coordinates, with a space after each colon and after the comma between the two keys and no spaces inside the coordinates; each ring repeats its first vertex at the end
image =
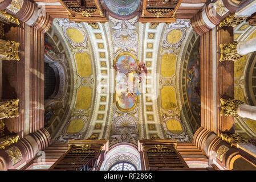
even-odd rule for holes
{"type": "Polygon", "coordinates": [[[161,90],[161,102],[163,109],[175,109],[177,107],[176,92],[173,86],[163,86],[161,90]]]}

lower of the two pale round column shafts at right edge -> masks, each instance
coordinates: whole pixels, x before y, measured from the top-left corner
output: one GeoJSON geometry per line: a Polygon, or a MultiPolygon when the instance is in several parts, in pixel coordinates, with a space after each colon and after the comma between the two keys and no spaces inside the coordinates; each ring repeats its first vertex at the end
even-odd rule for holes
{"type": "Polygon", "coordinates": [[[247,104],[241,104],[238,106],[237,114],[242,118],[256,120],[256,107],[247,104]]]}

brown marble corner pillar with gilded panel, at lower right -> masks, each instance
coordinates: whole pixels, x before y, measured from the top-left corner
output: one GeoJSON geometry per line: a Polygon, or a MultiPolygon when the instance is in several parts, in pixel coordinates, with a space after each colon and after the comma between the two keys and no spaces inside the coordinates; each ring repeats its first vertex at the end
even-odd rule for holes
{"type": "MultiPolygon", "coordinates": [[[[235,136],[235,134],[233,134],[235,136]]],[[[231,137],[233,136],[231,135],[231,137]]],[[[229,170],[231,163],[241,156],[250,164],[256,164],[255,146],[241,142],[234,137],[218,137],[215,133],[200,127],[193,137],[193,143],[209,158],[209,163],[221,170],[229,170]]],[[[255,167],[256,168],[256,167],[255,167]]]]}

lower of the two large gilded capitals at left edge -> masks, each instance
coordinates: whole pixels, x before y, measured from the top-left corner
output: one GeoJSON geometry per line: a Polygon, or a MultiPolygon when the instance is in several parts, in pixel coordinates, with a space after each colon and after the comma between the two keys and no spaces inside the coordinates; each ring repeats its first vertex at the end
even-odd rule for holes
{"type": "Polygon", "coordinates": [[[0,119],[14,118],[19,116],[19,99],[0,101],[0,119]]]}

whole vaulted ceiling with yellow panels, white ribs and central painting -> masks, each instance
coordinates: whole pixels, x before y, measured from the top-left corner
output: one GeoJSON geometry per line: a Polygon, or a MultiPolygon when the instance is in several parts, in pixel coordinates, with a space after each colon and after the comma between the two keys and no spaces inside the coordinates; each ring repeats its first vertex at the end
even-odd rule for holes
{"type": "MultiPolygon", "coordinates": [[[[48,34],[58,36],[62,45],[68,61],[64,85],[70,88],[61,123],[48,128],[54,140],[105,138],[111,145],[137,144],[143,138],[191,141],[200,126],[200,60],[199,39],[189,20],[55,19],[48,34]],[[137,75],[138,69],[143,74],[137,75]]],[[[54,123],[54,116],[48,118],[54,123]]]]}

